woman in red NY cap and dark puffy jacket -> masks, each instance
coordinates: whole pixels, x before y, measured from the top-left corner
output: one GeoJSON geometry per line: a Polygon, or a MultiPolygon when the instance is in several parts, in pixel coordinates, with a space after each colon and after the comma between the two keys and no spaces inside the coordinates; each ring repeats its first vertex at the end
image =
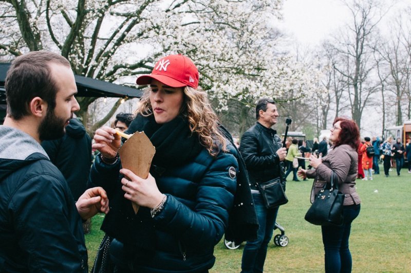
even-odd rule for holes
{"type": "Polygon", "coordinates": [[[113,129],[94,137],[101,154],[90,178],[110,198],[101,229],[115,238],[111,256],[121,272],[207,272],[233,206],[235,149],[219,132],[189,58],[164,57],[137,84],[150,87],[126,133],[144,131],[156,148],[148,178],[121,169],[113,129]],[[137,214],[130,201],[141,206],[137,214]]]}

